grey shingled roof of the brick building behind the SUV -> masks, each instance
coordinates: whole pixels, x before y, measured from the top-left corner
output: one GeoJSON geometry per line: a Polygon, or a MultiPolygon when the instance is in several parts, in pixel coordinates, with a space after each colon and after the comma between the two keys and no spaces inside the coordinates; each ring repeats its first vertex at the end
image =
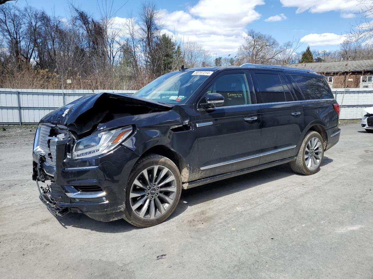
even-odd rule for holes
{"type": "Polygon", "coordinates": [[[373,71],[373,59],[342,60],[334,62],[314,62],[288,64],[287,67],[314,70],[317,73],[373,71]]]}

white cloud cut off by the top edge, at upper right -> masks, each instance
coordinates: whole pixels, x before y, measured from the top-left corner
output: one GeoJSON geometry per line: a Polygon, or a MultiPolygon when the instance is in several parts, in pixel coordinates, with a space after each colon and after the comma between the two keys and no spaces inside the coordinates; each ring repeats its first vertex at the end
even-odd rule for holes
{"type": "MultiPolygon", "coordinates": [[[[283,7],[296,7],[297,13],[309,10],[311,13],[339,11],[342,15],[352,17],[351,13],[360,11],[365,4],[360,0],[280,0],[283,7]]],[[[342,16],[344,17],[344,16],[342,16]]]]}

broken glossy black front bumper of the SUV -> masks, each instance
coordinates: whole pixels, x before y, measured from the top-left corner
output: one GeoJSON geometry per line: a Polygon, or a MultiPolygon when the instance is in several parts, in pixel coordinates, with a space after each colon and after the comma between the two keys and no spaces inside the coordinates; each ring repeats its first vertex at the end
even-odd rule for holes
{"type": "Polygon", "coordinates": [[[66,157],[66,144],[57,142],[54,173],[44,170],[43,155],[32,155],[32,178],[38,183],[41,201],[56,216],[79,212],[99,221],[123,218],[127,179],[138,154],[119,145],[102,156],[73,160],[66,157]],[[40,183],[49,181],[49,185],[40,183]],[[91,187],[100,190],[81,190],[91,187]]]}

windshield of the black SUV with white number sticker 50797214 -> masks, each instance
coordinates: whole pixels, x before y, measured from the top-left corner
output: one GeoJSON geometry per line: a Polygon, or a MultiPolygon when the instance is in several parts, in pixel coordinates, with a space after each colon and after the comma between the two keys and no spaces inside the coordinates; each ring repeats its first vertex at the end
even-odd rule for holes
{"type": "Polygon", "coordinates": [[[169,104],[184,104],[212,73],[188,71],[165,74],[142,87],[134,96],[169,104]]]}

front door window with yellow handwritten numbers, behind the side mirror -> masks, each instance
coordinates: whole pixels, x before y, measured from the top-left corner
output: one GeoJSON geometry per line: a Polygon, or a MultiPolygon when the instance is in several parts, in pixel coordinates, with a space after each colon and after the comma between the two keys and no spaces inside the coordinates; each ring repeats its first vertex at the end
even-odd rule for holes
{"type": "Polygon", "coordinates": [[[218,77],[206,93],[219,93],[224,97],[223,106],[251,104],[250,93],[244,73],[226,74],[218,77]]]}

